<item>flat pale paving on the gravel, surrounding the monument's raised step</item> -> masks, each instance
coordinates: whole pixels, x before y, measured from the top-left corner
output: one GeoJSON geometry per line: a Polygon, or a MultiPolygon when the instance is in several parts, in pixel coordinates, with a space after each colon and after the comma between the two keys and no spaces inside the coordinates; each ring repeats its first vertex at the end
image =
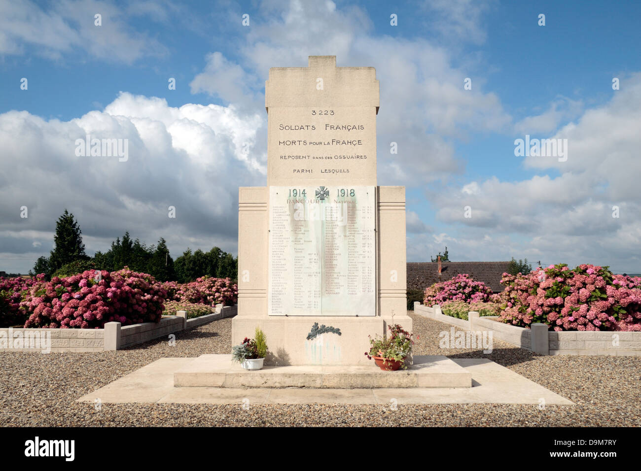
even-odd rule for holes
{"type": "Polygon", "coordinates": [[[174,387],[174,373],[194,358],[161,358],[79,398],[103,404],[558,404],[564,397],[488,359],[452,361],[472,375],[470,388],[215,388],[174,387]]]}

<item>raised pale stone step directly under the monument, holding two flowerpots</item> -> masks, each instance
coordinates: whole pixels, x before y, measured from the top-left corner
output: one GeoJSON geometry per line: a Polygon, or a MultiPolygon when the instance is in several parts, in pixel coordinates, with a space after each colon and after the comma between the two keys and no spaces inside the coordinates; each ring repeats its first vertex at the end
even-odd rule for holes
{"type": "Polygon", "coordinates": [[[408,370],[368,366],[295,365],[244,370],[231,355],[201,355],[174,373],[174,386],[217,388],[470,388],[472,374],[441,355],[415,355],[408,370]]]}

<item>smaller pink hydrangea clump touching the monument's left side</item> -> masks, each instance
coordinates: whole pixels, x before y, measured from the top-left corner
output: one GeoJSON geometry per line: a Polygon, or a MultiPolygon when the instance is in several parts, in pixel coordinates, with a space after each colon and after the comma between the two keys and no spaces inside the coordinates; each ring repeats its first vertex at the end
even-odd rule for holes
{"type": "Polygon", "coordinates": [[[229,278],[203,276],[182,285],[175,281],[163,284],[172,301],[191,302],[215,306],[233,306],[238,301],[238,285],[229,278]]]}

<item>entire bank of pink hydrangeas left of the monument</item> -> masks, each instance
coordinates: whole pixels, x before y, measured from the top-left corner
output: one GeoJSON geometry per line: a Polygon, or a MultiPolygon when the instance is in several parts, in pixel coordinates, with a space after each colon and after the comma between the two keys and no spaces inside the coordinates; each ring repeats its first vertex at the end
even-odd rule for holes
{"type": "Polygon", "coordinates": [[[212,313],[213,306],[233,306],[238,286],[229,278],[201,277],[192,283],[159,283],[153,276],[125,267],[67,277],[0,277],[0,327],[103,327],[159,322],[163,313],[187,317],[212,313]],[[165,302],[166,301],[166,302],[165,302]]]}

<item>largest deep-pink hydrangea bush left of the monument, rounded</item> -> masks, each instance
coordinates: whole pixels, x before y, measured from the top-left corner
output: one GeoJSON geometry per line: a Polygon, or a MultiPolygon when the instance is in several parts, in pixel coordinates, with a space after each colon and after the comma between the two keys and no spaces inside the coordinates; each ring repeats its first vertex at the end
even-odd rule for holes
{"type": "Polygon", "coordinates": [[[35,283],[20,306],[29,314],[24,327],[98,329],[106,322],[123,326],[159,322],[167,292],[153,276],[125,267],[95,270],[35,283]]]}

